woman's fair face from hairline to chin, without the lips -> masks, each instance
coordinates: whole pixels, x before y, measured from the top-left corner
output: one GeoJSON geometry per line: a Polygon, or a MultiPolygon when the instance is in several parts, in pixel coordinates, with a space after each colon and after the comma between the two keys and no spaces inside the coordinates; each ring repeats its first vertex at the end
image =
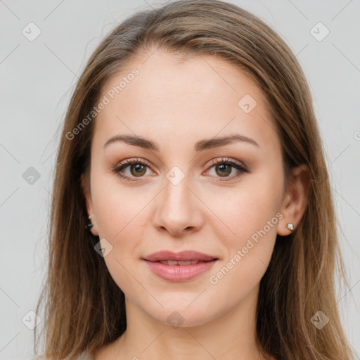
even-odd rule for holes
{"type": "Polygon", "coordinates": [[[94,120],[84,194],[91,231],[127,303],[161,323],[177,311],[181,326],[194,326],[244,302],[266,271],[276,234],[290,233],[281,143],[257,85],[225,60],[181,61],[160,50],[144,60],[103,89],[110,103],[94,120]],[[133,68],[139,74],[127,77],[133,68]],[[125,135],[149,142],[108,142],[125,135]],[[237,138],[214,141],[229,136],[237,138]],[[195,277],[169,280],[144,260],[160,250],[217,260],[195,277]]]}

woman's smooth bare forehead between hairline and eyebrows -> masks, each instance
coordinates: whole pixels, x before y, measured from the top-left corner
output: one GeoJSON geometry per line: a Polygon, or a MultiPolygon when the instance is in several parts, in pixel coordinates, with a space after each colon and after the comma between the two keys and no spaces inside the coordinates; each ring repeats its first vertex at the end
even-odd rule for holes
{"type": "Polygon", "coordinates": [[[267,147],[278,142],[257,84],[219,57],[181,60],[158,49],[127,64],[103,86],[103,96],[108,104],[96,119],[94,141],[146,134],[159,143],[181,139],[193,146],[237,133],[267,147]]]}

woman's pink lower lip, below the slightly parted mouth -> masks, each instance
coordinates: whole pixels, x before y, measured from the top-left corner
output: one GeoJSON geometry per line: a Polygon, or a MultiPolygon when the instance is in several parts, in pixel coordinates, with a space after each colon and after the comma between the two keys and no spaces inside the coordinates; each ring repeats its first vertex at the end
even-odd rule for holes
{"type": "Polygon", "coordinates": [[[217,262],[217,259],[190,265],[165,265],[161,262],[144,261],[150,266],[150,270],[160,278],[169,281],[187,281],[209,270],[217,262]]]}

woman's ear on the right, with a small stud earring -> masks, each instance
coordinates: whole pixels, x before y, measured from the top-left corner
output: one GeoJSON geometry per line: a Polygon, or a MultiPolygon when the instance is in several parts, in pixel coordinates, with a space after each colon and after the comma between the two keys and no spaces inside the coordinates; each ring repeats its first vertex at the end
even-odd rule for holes
{"type": "Polygon", "coordinates": [[[286,236],[293,232],[288,229],[288,223],[292,223],[295,229],[300,223],[307,208],[310,186],[309,174],[309,167],[304,164],[292,169],[289,175],[288,191],[285,193],[281,205],[283,217],[278,224],[278,235],[286,236]]]}

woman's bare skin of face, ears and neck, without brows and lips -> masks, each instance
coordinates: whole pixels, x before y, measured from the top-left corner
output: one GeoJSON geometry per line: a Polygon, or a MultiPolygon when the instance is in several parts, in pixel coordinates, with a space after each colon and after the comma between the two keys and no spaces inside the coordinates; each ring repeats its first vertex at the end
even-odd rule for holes
{"type": "Polygon", "coordinates": [[[106,94],[132,68],[139,70],[98,115],[90,188],[82,178],[91,232],[112,245],[105,264],[126,298],[127,330],[101,348],[96,360],[260,359],[254,336],[259,281],[276,235],[288,235],[288,222],[296,228],[302,218],[305,169],[293,170],[285,193],[281,141],[259,88],[244,72],[214,56],[184,61],[161,49],[148,56],[104,86],[106,94]],[[238,106],[245,94],[257,101],[250,113],[238,106]],[[146,137],[160,152],[120,141],[103,148],[119,134],[146,137]],[[259,146],[234,142],[199,153],[193,148],[229,134],[248,136],[259,146]],[[112,171],[133,158],[150,165],[141,176],[123,169],[134,181],[112,171]],[[237,160],[249,172],[236,176],[235,167],[217,169],[211,160],[218,158],[237,160]],[[166,177],[174,166],[185,176],[176,185],[166,177]],[[218,283],[210,283],[276,213],[282,218],[266,236],[218,283]],[[197,250],[219,261],[190,281],[165,281],[141,259],[158,250],[197,250]],[[184,321],[177,328],[167,321],[173,311],[184,321]]]}

